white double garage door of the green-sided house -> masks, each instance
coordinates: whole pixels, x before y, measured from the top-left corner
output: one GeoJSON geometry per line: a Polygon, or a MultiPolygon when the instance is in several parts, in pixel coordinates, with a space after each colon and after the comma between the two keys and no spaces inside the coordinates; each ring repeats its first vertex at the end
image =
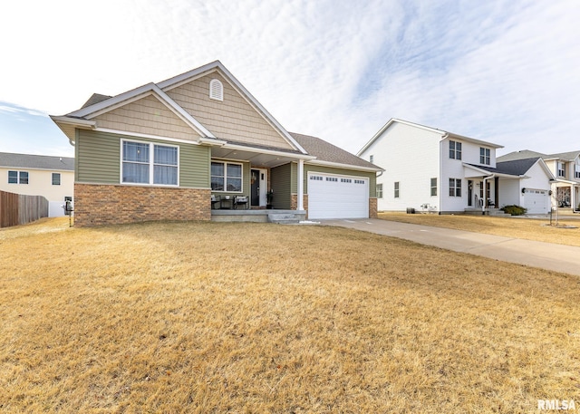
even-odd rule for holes
{"type": "Polygon", "coordinates": [[[369,217],[369,178],[308,173],[308,218],[369,217]]]}

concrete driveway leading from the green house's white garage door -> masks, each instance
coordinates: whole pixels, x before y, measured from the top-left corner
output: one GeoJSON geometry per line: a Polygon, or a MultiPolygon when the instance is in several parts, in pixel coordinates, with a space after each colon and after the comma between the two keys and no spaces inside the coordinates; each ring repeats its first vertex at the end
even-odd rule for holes
{"type": "Polygon", "coordinates": [[[421,245],[482,255],[504,262],[580,275],[580,247],[372,218],[320,220],[320,223],[324,226],[342,226],[403,238],[421,245]]]}

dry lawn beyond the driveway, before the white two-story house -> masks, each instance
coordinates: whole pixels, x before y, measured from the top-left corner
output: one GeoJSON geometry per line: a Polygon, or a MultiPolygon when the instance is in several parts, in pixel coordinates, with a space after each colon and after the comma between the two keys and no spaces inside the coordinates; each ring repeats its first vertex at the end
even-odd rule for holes
{"type": "Polygon", "coordinates": [[[423,226],[436,226],[467,230],[488,235],[507,236],[536,240],[538,242],[556,243],[558,245],[580,246],[580,217],[570,218],[561,216],[553,219],[550,226],[549,218],[523,218],[523,217],[489,217],[489,216],[463,216],[435,214],[405,214],[405,213],[379,213],[379,218],[401,223],[411,223],[423,226]],[[563,226],[575,226],[578,228],[564,228],[563,226]]]}

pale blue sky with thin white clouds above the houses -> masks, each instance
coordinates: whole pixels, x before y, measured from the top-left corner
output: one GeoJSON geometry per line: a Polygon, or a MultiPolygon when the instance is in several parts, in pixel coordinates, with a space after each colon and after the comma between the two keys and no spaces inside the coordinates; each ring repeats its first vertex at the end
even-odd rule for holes
{"type": "Polygon", "coordinates": [[[577,0],[8,0],[0,152],[73,156],[48,115],[221,61],[286,130],[356,153],[391,118],[580,150],[577,0]]]}

